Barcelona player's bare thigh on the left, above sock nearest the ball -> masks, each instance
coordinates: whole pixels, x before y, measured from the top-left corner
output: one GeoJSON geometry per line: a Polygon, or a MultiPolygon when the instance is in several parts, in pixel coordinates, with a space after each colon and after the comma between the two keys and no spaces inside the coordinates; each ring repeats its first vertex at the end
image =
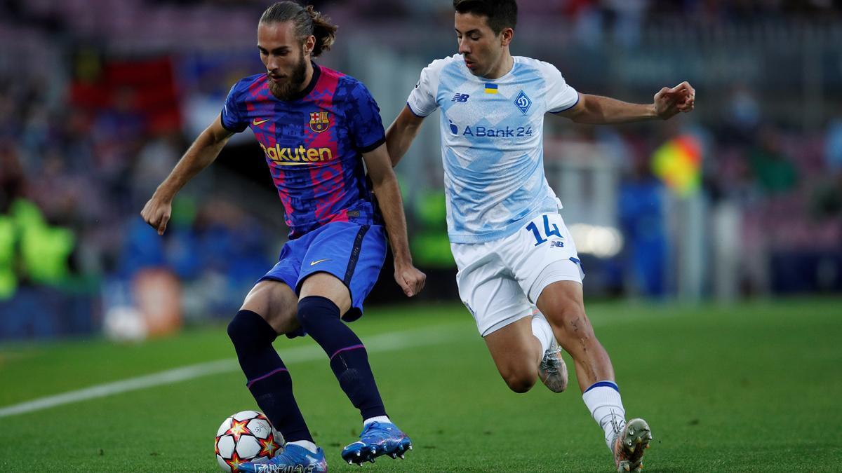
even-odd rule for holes
{"type": "Polygon", "coordinates": [[[277,333],[290,333],[298,329],[296,319],[298,297],[284,282],[264,279],[248,291],[242,302],[242,311],[253,311],[262,316],[277,333]]]}

